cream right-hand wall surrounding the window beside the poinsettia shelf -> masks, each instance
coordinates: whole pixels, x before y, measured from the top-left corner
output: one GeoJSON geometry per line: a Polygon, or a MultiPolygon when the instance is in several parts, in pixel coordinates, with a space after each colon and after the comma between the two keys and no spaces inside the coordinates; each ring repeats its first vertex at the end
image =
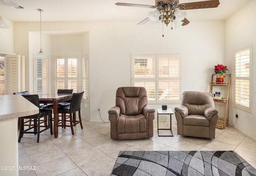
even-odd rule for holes
{"type": "Polygon", "coordinates": [[[234,75],[234,50],[253,44],[253,88],[252,93],[252,110],[253,113],[244,112],[234,108],[234,76],[232,77],[232,88],[230,95],[230,123],[235,124],[235,128],[244,132],[248,136],[256,139],[256,1],[250,1],[246,6],[232,15],[225,23],[225,64],[229,66],[229,70],[234,75]],[[238,113],[238,119],[235,114],[238,113]]]}

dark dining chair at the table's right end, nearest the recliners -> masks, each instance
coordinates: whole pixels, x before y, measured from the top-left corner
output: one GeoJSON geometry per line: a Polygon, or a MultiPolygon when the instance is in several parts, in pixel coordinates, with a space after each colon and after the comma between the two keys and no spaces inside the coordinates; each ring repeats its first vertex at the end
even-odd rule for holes
{"type": "Polygon", "coordinates": [[[73,93],[72,98],[70,100],[70,104],[66,104],[64,106],[58,107],[58,113],[62,114],[62,119],[58,123],[58,126],[61,126],[62,128],[71,127],[71,132],[73,135],[74,135],[73,126],[76,126],[76,124],[80,123],[80,126],[83,129],[81,113],[80,113],[83,94],[84,94],[84,91],[79,93],[73,93]],[[76,120],[77,111],[78,111],[79,120],[76,120]],[[66,114],[69,114],[69,115],[66,116],[66,114]],[[68,118],[69,120],[67,120],[68,118]],[[70,125],[66,125],[66,122],[70,122],[70,125]]]}

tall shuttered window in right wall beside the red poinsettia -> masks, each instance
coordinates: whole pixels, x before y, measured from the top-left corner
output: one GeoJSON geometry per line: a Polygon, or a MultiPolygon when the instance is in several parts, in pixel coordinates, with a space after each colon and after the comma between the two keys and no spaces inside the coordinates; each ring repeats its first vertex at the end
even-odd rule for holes
{"type": "Polygon", "coordinates": [[[252,113],[252,46],[234,52],[234,107],[252,113]]]}

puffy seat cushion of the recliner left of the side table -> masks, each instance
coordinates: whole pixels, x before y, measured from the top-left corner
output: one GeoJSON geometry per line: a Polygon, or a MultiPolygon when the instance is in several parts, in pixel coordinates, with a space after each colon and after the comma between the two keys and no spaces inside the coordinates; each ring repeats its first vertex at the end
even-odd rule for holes
{"type": "Polygon", "coordinates": [[[117,123],[118,134],[146,132],[146,118],[143,114],[137,116],[121,115],[117,123]]]}

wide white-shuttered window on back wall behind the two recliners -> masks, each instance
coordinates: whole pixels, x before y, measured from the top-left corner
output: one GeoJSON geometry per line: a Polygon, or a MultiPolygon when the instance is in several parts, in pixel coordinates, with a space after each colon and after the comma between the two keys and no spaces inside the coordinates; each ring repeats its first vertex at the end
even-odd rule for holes
{"type": "Polygon", "coordinates": [[[132,85],[146,88],[149,103],[180,103],[180,80],[180,54],[132,54],[132,85]]]}

